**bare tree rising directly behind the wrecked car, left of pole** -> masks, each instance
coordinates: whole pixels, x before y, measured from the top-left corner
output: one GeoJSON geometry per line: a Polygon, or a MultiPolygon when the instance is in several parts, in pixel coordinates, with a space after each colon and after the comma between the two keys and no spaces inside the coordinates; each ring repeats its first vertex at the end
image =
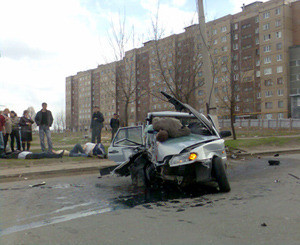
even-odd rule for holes
{"type": "Polygon", "coordinates": [[[195,33],[198,28],[192,25],[183,34],[163,39],[164,30],[159,27],[158,9],[159,5],[152,22],[155,59],[152,73],[157,82],[153,83],[151,94],[161,98],[159,92],[164,90],[178,100],[195,106],[195,94],[204,84],[201,45],[195,33]]]}

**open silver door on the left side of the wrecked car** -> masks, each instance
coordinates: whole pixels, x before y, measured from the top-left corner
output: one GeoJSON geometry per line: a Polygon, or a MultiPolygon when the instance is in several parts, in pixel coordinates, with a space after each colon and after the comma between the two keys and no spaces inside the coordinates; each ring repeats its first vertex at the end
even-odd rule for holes
{"type": "Polygon", "coordinates": [[[119,128],[110,147],[108,147],[108,158],[121,164],[127,161],[137,148],[143,146],[143,126],[119,128]]]}

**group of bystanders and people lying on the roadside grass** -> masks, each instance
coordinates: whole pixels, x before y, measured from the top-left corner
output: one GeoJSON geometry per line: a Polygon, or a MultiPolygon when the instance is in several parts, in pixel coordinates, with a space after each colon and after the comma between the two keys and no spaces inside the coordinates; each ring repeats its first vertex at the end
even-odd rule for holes
{"type": "MultiPolygon", "coordinates": [[[[91,119],[92,142],[86,143],[83,147],[76,144],[71,151],[55,151],[51,140],[50,127],[53,123],[53,116],[50,110],[47,110],[47,103],[42,103],[42,109],[32,119],[29,111],[25,110],[23,116],[19,118],[14,111],[8,108],[0,113],[0,157],[2,158],[21,158],[21,159],[40,159],[40,158],[59,158],[63,155],[71,157],[92,156],[106,157],[104,146],[101,144],[101,130],[103,128],[104,117],[99,107],[93,108],[91,119]],[[39,127],[39,138],[42,153],[30,152],[30,143],[32,141],[32,124],[36,123],[39,127]],[[45,135],[48,143],[48,151],[45,146],[45,135]],[[11,152],[6,152],[8,140],[10,138],[11,152]],[[95,141],[97,140],[97,144],[95,141]],[[15,149],[16,142],[16,149],[15,149]],[[22,148],[21,148],[22,147],[22,148]]],[[[120,126],[118,115],[115,113],[110,120],[112,128],[111,140],[120,126]]]]}

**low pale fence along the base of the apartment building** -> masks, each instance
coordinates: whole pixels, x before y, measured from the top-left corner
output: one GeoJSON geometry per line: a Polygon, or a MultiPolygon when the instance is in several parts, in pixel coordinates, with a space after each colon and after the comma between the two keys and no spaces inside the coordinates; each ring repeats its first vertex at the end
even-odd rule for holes
{"type": "MultiPolygon", "coordinates": [[[[230,119],[220,119],[220,128],[229,128],[230,119]]],[[[235,127],[242,128],[282,128],[282,129],[300,129],[300,119],[237,119],[235,127]]]]}

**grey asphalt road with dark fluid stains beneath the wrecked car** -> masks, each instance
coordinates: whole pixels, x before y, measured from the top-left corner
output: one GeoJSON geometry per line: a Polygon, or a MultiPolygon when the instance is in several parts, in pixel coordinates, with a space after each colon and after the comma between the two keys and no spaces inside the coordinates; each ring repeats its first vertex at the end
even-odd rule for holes
{"type": "Polygon", "coordinates": [[[0,244],[299,244],[300,154],[268,159],[232,160],[225,194],[98,175],[4,183],[0,244]]]}

